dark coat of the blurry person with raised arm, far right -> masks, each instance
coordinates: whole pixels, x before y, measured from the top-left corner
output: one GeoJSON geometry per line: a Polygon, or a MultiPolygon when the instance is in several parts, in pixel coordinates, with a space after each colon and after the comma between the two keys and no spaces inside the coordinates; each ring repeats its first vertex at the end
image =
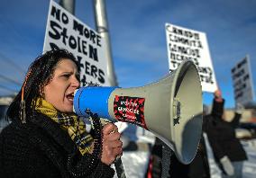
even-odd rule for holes
{"type": "Polygon", "coordinates": [[[204,129],[213,149],[216,162],[223,156],[228,156],[231,161],[243,161],[247,159],[246,153],[235,137],[235,128],[238,126],[241,114],[235,113],[231,122],[222,119],[224,102],[215,102],[213,111],[204,120],[204,129]]]}

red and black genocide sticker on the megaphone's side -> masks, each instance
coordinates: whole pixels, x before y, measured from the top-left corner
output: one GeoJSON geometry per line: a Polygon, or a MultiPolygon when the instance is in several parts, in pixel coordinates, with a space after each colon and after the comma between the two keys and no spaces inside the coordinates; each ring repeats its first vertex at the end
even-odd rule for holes
{"type": "Polygon", "coordinates": [[[144,102],[145,98],[115,95],[115,118],[119,121],[133,123],[147,129],[144,118],[144,102]]]}

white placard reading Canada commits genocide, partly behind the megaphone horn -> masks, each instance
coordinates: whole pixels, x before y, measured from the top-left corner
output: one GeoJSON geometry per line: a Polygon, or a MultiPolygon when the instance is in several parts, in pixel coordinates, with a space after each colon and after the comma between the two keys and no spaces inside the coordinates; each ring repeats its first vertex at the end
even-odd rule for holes
{"type": "Polygon", "coordinates": [[[169,72],[185,59],[192,60],[201,78],[202,90],[214,93],[217,89],[215,70],[210,57],[206,33],[166,23],[169,72]]]}

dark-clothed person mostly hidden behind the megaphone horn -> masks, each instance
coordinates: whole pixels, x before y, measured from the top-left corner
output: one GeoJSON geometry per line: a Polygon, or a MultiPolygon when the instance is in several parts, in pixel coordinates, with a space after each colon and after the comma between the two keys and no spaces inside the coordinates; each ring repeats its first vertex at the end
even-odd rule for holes
{"type": "MultiPolygon", "coordinates": [[[[204,105],[203,116],[206,115],[207,107],[204,105]]],[[[205,117],[203,117],[205,119],[205,117]]],[[[204,120],[203,130],[204,131],[204,120]]],[[[162,145],[163,142],[160,138],[155,139],[155,143],[151,148],[150,163],[148,165],[146,178],[160,178],[162,170],[162,145]]],[[[172,152],[169,164],[169,177],[170,178],[209,178],[210,171],[206,154],[206,145],[204,137],[202,136],[198,145],[197,154],[192,162],[184,165],[178,161],[178,158],[172,152]]]]}

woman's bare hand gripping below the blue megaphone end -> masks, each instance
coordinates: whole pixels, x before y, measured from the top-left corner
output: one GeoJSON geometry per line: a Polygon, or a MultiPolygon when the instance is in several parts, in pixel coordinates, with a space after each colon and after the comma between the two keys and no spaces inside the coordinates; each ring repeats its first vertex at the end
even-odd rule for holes
{"type": "Polygon", "coordinates": [[[102,138],[102,156],[101,161],[105,165],[114,163],[116,156],[121,156],[123,153],[121,134],[113,123],[105,124],[103,128],[102,138]]]}

